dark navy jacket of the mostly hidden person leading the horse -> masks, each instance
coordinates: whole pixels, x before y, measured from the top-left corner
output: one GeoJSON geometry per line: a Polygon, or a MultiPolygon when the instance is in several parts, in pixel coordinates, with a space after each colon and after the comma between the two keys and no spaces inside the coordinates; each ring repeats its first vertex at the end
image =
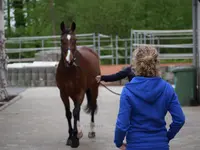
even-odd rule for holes
{"type": "Polygon", "coordinates": [[[118,80],[124,79],[126,77],[128,77],[128,80],[131,81],[134,76],[135,76],[135,73],[132,70],[132,67],[128,66],[125,69],[123,69],[115,74],[101,76],[101,81],[113,82],[113,81],[118,81],[118,80]]]}

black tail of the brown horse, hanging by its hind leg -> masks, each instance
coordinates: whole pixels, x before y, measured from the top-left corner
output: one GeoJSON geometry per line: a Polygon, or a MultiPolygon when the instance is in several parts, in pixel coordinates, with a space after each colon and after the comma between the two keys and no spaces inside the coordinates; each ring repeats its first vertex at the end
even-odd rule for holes
{"type": "Polygon", "coordinates": [[[94,93],[94,91],[91,91],[91,89],[87,89],[86,91],[86,96],[87,96],[87,105],[84,108],[85,113],[89,114],[89,113],[97,113],[97,101],[96,101],[96,97],[94,97],[96,94],[94,93]],[[92,93],[93,92],[93,93],[92,93]]]}

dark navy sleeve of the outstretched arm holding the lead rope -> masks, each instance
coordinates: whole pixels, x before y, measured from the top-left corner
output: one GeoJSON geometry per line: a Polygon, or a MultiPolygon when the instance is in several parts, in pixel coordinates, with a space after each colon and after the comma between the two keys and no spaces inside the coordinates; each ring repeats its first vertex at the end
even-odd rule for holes
{"type": "Polygon", "coordinates": [[[124,70],[121,70],[115,74],[101,76],[101,81],[105,82],[118,81],[127,77],[130,72],[131,72],[131,67],[127,67],[124,70]]]}

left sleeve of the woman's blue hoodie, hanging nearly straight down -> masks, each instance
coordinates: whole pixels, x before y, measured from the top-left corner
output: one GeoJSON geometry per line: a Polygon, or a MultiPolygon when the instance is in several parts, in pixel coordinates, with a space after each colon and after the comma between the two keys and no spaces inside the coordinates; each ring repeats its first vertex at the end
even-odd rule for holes
{"type": "Polygon", "coordinates": [[[130,125],[131,104],[124,88],[120,97],[119,113],[115,126],[114,143],[121,147],[124,137],[130,125]]]}

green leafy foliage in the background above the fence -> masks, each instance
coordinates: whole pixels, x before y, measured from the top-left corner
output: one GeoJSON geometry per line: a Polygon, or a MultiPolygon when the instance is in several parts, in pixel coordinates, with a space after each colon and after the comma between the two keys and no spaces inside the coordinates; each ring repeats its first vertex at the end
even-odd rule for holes
{"type": "Polygon", "coordinates": [[[26,24],[21,36],[52,35],[52,20],[56,34],[60,33],[62,20],[68,26],[76,21],[78,33],[100,32],[120,37],[129,37],[131,28],[192,28],[192,2],[188,0],[54,0],[53,8],[51,2],[12,0],[16,28],[26,24]],[[22,8],[27,8],[26,17],[22,8]]]}

